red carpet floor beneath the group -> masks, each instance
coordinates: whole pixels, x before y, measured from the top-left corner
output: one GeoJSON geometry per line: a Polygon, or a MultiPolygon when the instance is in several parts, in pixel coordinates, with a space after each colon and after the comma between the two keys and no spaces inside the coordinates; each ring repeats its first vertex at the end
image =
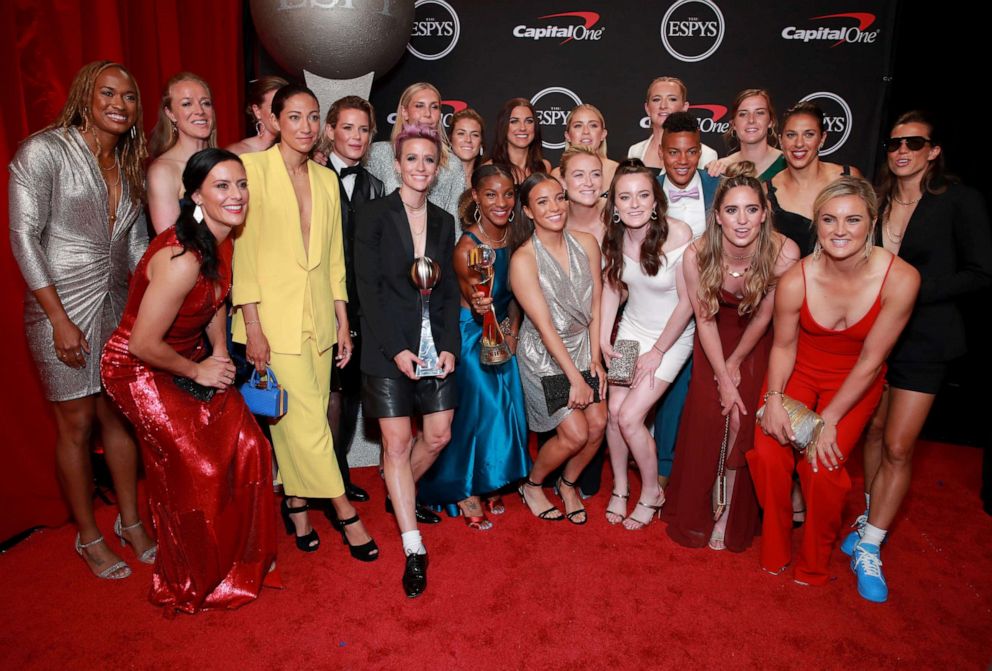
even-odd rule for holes
{"type": "MultiPolygon", "coordinates": [[[[280,538],[286,589],[239,611],[165,619],[146,601],[149,567],[90,577],[70,527],[0,557],[0,653],[8,669],[981,669],[992,659],[992,518],[978,499],[980,452],[922,444],[911,499],[884,553],[891,596],[837,580],[800,587],[734,555],[673,544],[660,523],[539,522],[507,499],[489,532],[445,519],[425,530],[426,594],[408,600],[392,517],[373,469],[355,471],[382,547],[352,560],[320,518],[313,555],[280,538]]],[[[856,488],[860,482],[856,483],[856,488]]],[[[848,518],[860,512],[857,489],[848,518]]],[[[114,511],[99,520],[110,535],[114,511]]],[[[760,543],[760,539],[757,541],[760,543]]],[[[133,555],[125,551],[129,561],[133,555]]]]}

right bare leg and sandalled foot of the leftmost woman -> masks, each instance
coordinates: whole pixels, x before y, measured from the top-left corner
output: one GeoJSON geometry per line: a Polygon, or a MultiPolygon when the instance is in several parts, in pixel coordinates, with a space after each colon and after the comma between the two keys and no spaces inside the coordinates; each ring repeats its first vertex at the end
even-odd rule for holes
{"type": "Polygon", "coordinates": [[[96,415],[100,420],[107,467],[114,480],[117,507],[121,511],[121,526],[133,527],[123,531],[139,557],[155,542],[138,516],[138,446],[125,425],[125,418],[105,394],[96,397],[96,415]]]}

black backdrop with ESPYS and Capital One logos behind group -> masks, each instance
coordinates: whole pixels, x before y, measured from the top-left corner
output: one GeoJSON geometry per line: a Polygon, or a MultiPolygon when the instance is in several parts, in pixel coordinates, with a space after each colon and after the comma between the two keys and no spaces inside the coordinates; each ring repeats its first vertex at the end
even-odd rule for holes
{"type": "MultiPolygon", "coordinates": [[[[253,3],[261,4],[261,3],[253,3]]],[[[390,39],[384,19],[398,18],[412,4],[410,38],[398,62],[375,72],[370,99],[379,139],[386,137],[403,89],[428,81],[440,89],[445,122],[465,107],[491,126],[501,104],[531,100],[540,117],[544,150],[556,162],[564,147],[565,117],[575,105],[592,103],[606,117],[612,158],[626,155],[648,137],[644,113],[648,83],[668,75],[689,89],[703,142],[727,153],[723,133],[729,107],[745,88],[766,88],[778,112],[800,100],[823,108],[829,136],[822,155],[872,174],[879,156],[896,16],[895,0],[272,0],[300,17],[301,31],[323,21],[346,28],[322,42],[325,71],[368,55],[376,67],[377,44],[390,39]],[[304,14],[306,11],[308,14],[304,14]],[[363,16],[365,18],[363,18],[363,16]],[[335,53],[332,44],[339,45],[335,53]]],[[[250,21],[248,22],[251,23],[250,21]]],[[[255,74],[281,72],[255,37],[265,23],[248,26],[255,74]]],[[[292,37],[287,39],[292,40],[292,37]]],[[[270,51],[280,47],[269,43],[270,51]]],[[[313,51],[313,50],[311,50],[313,51]]],[[[319,49],[316,51],[319,52],[319,49]]],[[[319,53],[316,54],[319,57],[319,53]]],[[[381,68],[382,65],[380,64],[381,68]]],[[[308,68],[309,69],[309,68],[308,68]]],[[[338,68],[341,69],[341,68],[338,68]]],[[[491,138],[491,128],[487,133],[491,138]]],[[[488,139],[487,139],[488,140],[488,139]]]]}

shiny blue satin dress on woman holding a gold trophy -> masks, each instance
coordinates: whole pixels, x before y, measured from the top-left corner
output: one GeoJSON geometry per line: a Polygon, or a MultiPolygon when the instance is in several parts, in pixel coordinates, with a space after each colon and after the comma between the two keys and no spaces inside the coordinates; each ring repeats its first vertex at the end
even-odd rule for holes
{"type": "MultiPolygon", "coordinates": [[[[475,242],[479,239],[465,233],[475,242]]],[[[513,295],[509,287],[510,250],[496,250],[493,307],[501,322],[513,295]]],[[[448,512],[472,495],[488,494],[526,477],[527,417],[516,357],[497,366],[479,359],[482,321],[463,307],[459,316],[462,351],[455,366],[458,409],[451,425],[451,442],[418,483],[418,499],[448,504],[448,512]]]]}

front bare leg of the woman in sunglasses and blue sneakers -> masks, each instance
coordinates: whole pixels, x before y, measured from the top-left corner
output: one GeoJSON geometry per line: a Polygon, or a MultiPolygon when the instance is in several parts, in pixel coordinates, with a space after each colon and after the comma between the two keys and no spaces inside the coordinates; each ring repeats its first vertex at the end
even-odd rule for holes
{"type": "Polygon", "coordinates": [[[936,397],[905,389],[889,390],[882,459],[871,483],[868,523],[889,529],[909,489],[913,448],[936,397]]]}

